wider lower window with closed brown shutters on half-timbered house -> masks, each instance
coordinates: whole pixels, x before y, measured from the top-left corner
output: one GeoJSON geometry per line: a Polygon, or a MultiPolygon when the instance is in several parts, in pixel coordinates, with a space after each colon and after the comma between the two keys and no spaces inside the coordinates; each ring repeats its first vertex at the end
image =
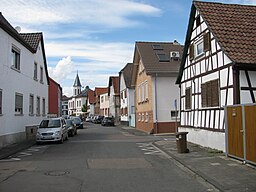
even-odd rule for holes
{"type": "Polygon", "coordinates": [[[219,81],[208,81],[201,85],[202,107],[219,106],[219,81]]]}

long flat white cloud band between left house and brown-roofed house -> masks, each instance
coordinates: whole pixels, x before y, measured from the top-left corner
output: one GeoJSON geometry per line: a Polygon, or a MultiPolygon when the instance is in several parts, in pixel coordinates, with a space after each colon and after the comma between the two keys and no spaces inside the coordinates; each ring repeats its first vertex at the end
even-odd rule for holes
{"type": "Polygon", "coordinates": [[[134,44],[121,42],[51,42],[45,43],[47,57],[80,57],[98,62],[131,62],[134,44]]]}

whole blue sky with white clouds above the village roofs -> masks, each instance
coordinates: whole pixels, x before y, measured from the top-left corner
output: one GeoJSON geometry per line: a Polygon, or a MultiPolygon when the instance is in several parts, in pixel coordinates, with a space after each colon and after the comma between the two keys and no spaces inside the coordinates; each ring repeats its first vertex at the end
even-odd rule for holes
{"type": "MultiPolygon", "coordinates": [[[[206,0],[207,1],[207,0],[206,0]]],[[[209,1],[209,0],[208,0],[209,1]]],[[[212,0],[211,0],[212,1],[212,0]]],[[[256,0],[218,0],[256,5],[256,0]]],[[[43,32],[50,77],[71,96],[82,85],[108,86],[132,62],[135,41],[181,44],[191,0],[1,0],[0,11],[21,32],[43,32]]]]}

